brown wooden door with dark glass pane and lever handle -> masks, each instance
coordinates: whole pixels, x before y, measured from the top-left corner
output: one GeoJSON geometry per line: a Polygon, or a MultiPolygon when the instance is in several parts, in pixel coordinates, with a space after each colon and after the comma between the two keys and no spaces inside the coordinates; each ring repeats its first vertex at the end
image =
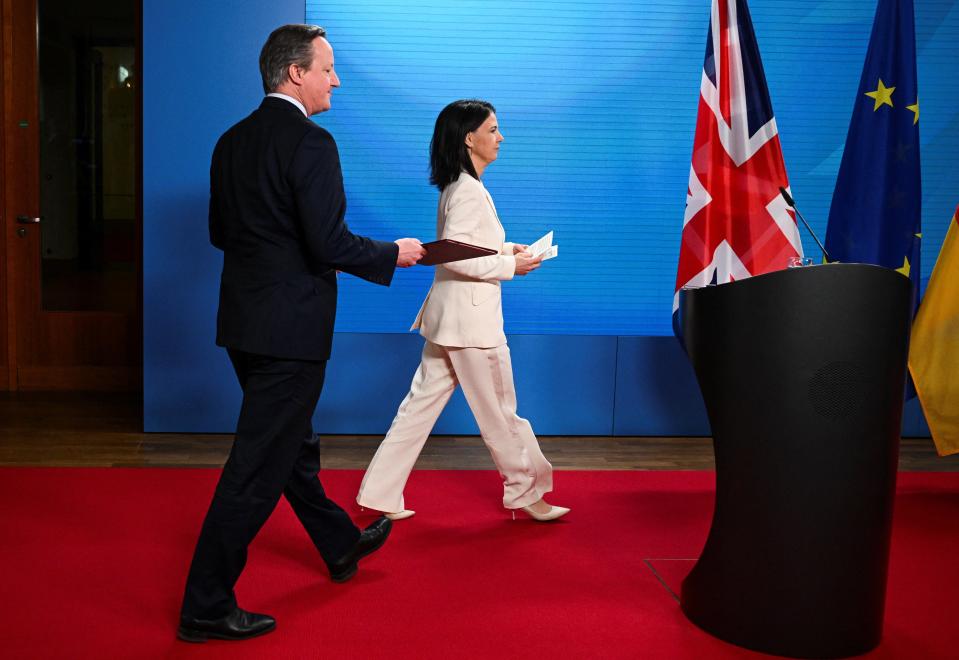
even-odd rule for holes
{"type": "Polygon", "coordinates": [[[140,389],[139,3],[0,1],[0,388],[140,389]]]}

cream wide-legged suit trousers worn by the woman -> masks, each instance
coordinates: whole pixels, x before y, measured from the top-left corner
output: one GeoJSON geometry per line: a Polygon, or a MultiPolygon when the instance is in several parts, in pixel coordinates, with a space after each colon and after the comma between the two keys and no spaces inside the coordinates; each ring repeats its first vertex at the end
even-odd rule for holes
{"type": "Polygon", "coordinates": [[[363,476],[356,498],[361,506],[405,508],[403,488],[457,384],[503,478],[503,506],[528,506],[553,490],[553,467],[529,422],[516,414],[509,347],[452,348],[427,341],[410,392],[363,476]]]}

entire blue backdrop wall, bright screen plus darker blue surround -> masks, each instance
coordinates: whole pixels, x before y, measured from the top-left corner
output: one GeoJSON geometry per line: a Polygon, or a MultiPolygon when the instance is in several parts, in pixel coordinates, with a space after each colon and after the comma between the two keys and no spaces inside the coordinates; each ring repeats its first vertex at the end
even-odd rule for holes
{"type": "MultiPolygon", "coordinates": [[[[873,0],[751,6],[793,193],[821,235],[874,9],[873,0]]],[[[347,221],[360,233],[431,238],[436,113],[463,96],[498,106],[506,142],[484,179],[500,215],[515,240],[554,229],[561,245],[559,259],[504,287],[514,358],[540,358],[517,368],[520,413],[537,432],[707,433],[678,348],[646,339],[670,333],[708,11],[708,0],[143,3],[146,430],[235,424],[238,388],[213,345],[222,256],[207,238],[210,153],[260,102],[266,36],[307,19],[329,28],[336,49],[343,87],[315,119],[340,145],[347,221]],[[561,367],[588,386],[573,396],[561,367]]],[[[917,0],[916,26],[924,286],[959,201],[959,0],[917,0]]],[[[404,333],[431,276],[403,270],[389,289],[341,278],[319,429],[383,432],[418,359],[419,340],[404,333]],[[349,365],[366,359],[351,347],[394,342],[395,354],[351,380],[349,365]]],[[[457,395],[437,432],[471,424],[457,395]]],[[[918,412],[907,424],[924,432],[918,412]]]]}

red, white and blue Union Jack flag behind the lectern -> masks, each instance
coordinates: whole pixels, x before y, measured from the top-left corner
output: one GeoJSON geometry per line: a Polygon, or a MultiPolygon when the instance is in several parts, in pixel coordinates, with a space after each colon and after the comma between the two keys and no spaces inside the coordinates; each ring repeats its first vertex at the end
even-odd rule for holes
{"type": "MultiPolygon", "coordinates": [[[[780,270],[802,256],[746,0],[713,0],[673,297],[780,270]]],[[[678,333],[677,333],[678,334],[678,333]]]]}

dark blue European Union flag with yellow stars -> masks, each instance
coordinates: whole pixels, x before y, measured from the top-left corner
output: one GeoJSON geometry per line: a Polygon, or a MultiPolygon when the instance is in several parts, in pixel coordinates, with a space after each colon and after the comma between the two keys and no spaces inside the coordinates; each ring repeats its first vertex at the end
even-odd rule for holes
{"type": "Polygon", "coordinates": [[[894,268],[918,301],[919,93],[912,0],[879,0],[839,178],[826,250],[846,263],[894,268]]]}

